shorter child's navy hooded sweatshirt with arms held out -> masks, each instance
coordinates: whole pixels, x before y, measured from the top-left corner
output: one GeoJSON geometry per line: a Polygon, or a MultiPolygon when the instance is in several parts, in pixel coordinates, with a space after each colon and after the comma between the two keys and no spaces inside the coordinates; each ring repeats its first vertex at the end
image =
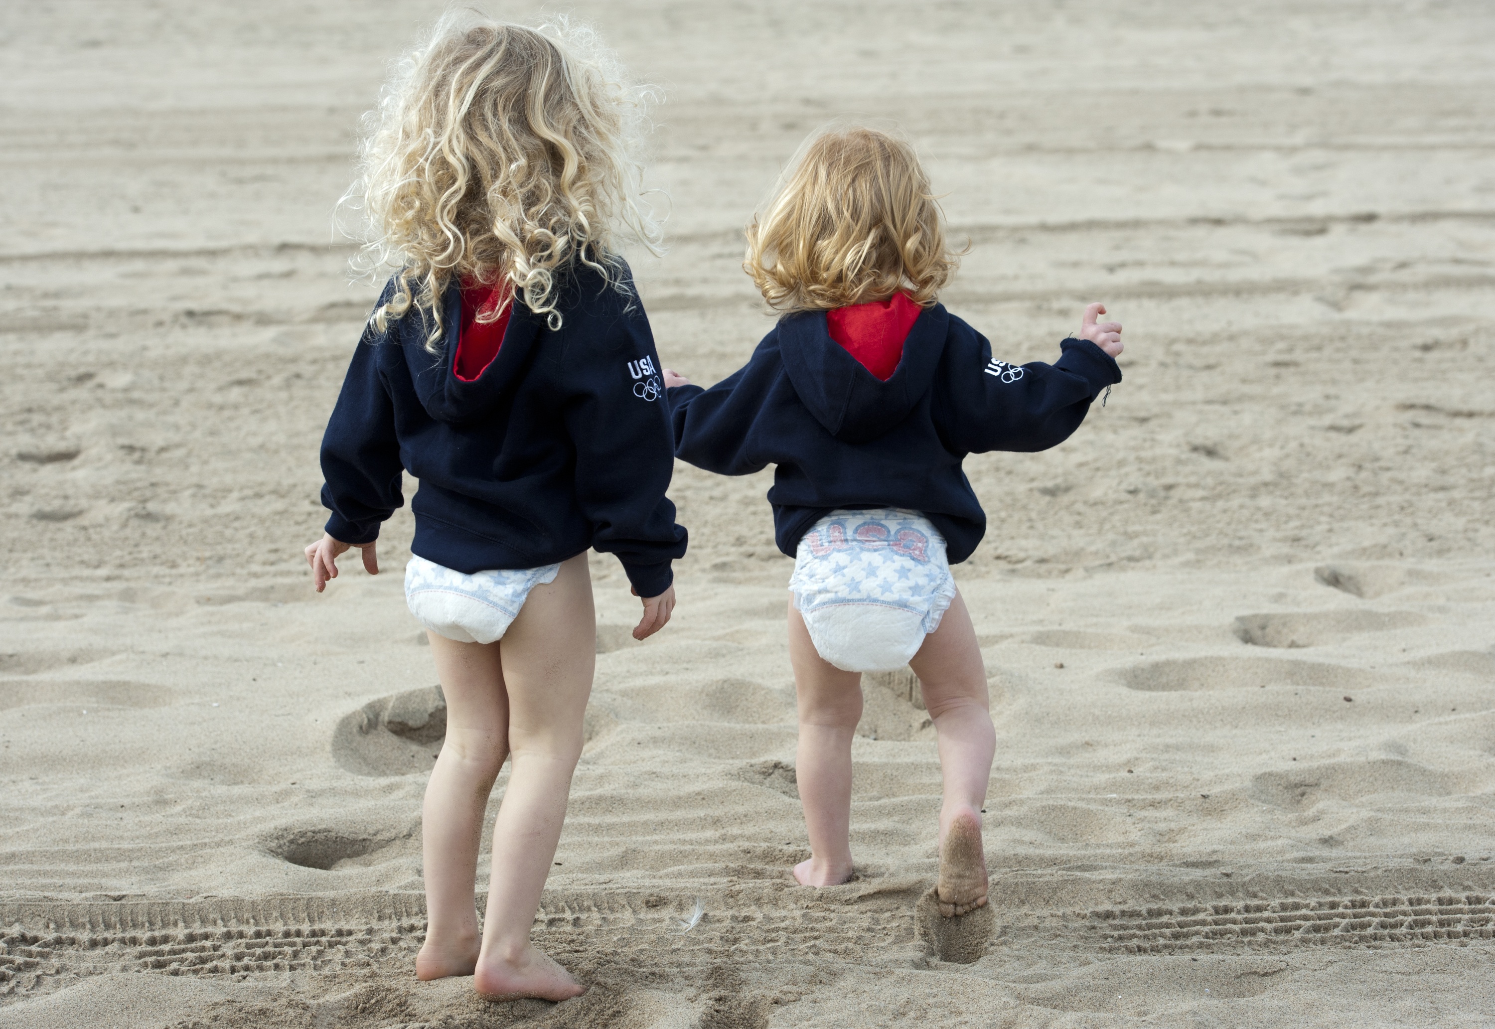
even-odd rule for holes
{"type": "Polygon", "coordinates": [[[903,357],[881,381],[831,340],[824,311],[789,314],[746,366],[716,386],[670,389],[676,456],[724,476],[777,465],[779,549],[833,510],[922,512],[964,561],[987,531],[961,461],[985,450],[1045,450],[1079,428],[1091,401],[1121,381],[1088,340],[1064,340],[1052,365],[1009,365],[943,305],[925,308],[903,357]]]}

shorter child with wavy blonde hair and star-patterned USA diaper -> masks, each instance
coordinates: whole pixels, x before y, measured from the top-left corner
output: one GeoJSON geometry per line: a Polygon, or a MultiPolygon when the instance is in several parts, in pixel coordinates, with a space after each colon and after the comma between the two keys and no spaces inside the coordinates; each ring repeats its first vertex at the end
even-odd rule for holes
{"type": "Polygon", "coordinates": [[[940,914],[987,903],[981,808],[996,733],[987,673],[949,565],[985,532],[961,462],[1044,450],[1121,380],[1121,326],[1079,332],[1052,365],[1012,365],[949,314],[939,203],[893,132],[812,136],[748,226],[743,269],[780,311],[748,365],[703,390],[665,369],[676,456],[727,476],[777,465],[768,503],[789,577],[804,885],[852,876],[851,745],[861,673],[910,666],[939,739],[940,914]]]}

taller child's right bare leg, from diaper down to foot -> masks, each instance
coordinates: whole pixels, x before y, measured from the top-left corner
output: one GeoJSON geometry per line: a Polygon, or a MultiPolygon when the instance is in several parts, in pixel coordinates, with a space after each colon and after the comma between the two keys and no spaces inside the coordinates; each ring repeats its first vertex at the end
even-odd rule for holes
{"type": "Polygon", "coordinates": [[[583,990],[535,950],[529,927],[582,755],[595,651],[592,580],[582,553],[561,565],[555,582],[531,591],[499,640],[513,767],[493,826],[493,873],[474,972],[474,986],[484,996],[564,1001],[583,990]]]}

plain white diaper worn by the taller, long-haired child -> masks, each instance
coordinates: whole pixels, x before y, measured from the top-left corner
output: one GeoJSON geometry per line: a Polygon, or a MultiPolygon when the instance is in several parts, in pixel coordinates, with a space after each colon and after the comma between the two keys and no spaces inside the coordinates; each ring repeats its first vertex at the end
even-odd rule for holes
{"type": "Polygon", "coordinates": [[[405,565],[405,603],[416,621],[457,643],[492,643],[508,631],[535,586],[553,582],[559,564],[495,568],[465,576],[413,556],[405,565]]]}

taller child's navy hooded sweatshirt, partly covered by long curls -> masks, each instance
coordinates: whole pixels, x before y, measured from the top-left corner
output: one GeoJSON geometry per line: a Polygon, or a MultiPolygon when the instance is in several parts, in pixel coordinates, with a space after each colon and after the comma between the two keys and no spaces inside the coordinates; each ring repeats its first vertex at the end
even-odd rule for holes
{"type": "MultiPolygon", "coordinates": [[[[453,374],[456,345],[425,348],[419,308],[386,332],[371,323],[321,441],[327,532],[377,538],[408,470],[420,480],[410,549],[428,561],[471,574],[597,547],[622,561],[640,597],[662,594],[686,534],[665,498],[674,458],[659,357],[622,274],[626,296],[573,265],[555,332],[516,299],[498,356],[474,381],[453,374]]],[[[457,284],[441,304],[454,338],[457,284]]]]}

